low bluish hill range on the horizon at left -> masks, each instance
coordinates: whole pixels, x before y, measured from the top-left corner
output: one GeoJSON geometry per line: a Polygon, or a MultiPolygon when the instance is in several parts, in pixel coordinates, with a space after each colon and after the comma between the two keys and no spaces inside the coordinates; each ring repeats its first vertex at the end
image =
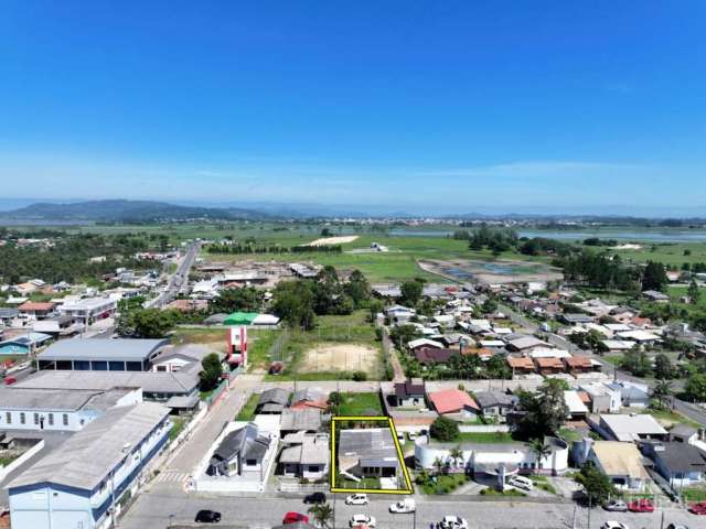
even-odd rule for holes
{"type": "Polygon", "coordinates": [[[68,204],[40,202],[19,209],[4,212],[6,218],[62,222],[152,222],[213,218],[233,220],[263,220],[272,216],[239,207],[181,206],[154,201],[87,201],[68,204]]]}

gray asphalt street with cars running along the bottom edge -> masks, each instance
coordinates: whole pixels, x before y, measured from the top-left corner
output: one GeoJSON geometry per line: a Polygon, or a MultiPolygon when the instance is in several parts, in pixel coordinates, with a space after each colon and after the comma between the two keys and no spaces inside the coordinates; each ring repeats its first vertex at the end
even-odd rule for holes
{"type": "MultiPolygon", "coordinates": [[[[568,503],[526,501],[470,501],[467,498],[449,496],[417,497],[416,526],[413,515],[388,512],[392,503],[399,498],[389,495],[371,496],[367,506],[346,506],[344,495],[335,501],[335,528],[349,527],[355,514],[375,517],[378,529],[427,529],[443,516],[457,515],[466,518],[470,528],[493,529],[576,529],[589,528],[588,510],[568,503]],[[575,525],[573,522],[575,521],[575,525]]],[[[329,495],[329,499],[332,496],[329,495]]],[[[212,496],[202,497],[178,494],[173,490],[154,492],[142,495],[130,509],[129,516],[120,522],[124,529],[168,527],[170,515],[174,523],[193,522],[200,509],[213,509],[223,515],[222,523],[242,525],[249,528],[268,528],[281,523],[288,511],[307,514],[308,506],[300,498],[260,495],[256,497],[212,496]]],[[[618,514],[602,509],[591,510],[590,528],[598,529],[607,520],[627,523],[630,529],[659,528],[662,509],[654,514],[618,514]]],[[[705,527],[705,520],[684,509],[664,509],[667,523],[684,523],[689,528],[705,527]]],[[[205,527],[205,526],[204,526],[205,527]]]]}

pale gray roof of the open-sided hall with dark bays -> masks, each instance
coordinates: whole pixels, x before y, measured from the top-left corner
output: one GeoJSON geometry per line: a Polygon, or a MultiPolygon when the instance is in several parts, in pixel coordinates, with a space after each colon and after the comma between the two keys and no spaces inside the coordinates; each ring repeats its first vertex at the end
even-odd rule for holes
{"type": "Polygon", "coordinates": [[[52,344],[38,355],[40,360],[142,361],[151,358],[167,339],[73,338],[52,344]]]}

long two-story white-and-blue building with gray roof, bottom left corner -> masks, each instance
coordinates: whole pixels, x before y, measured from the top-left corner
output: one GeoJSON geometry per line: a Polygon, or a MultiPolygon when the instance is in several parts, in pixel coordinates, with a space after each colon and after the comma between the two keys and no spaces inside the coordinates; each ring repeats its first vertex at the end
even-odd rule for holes
{"type": "Polygon", "coordinates": [[[13,529],[103,529],[169,439],[169,409],[109,410],[8,485],[13,529]]]}

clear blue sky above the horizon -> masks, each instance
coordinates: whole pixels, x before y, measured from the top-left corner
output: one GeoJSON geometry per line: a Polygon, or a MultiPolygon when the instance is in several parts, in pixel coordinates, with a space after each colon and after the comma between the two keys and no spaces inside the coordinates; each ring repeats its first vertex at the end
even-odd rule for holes
{"type": "Polygon", "coordinates": [[[703,210],[704,35],[700,0],[6,0],[2,194],[703,210]]]}

